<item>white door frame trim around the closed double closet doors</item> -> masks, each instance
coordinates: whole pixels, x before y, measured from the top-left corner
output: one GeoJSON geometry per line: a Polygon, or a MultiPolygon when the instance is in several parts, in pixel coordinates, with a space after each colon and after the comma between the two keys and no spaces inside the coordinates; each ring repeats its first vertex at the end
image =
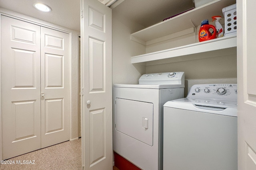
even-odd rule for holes
{"type": "MultiPolygon", "coordinates": [[[[8,16],[14,19],[18,19],[21,21],[26,21],[28,23],[32,23],[35,25],[39,25],[42,27],[47,27],[50,29],[54,29],[56,31],[61,31],[64,33],[69,34],[69,119],[70,119],[70,127],[69,127],[69,139],[70,141],[78,139],[78,107],[75,106],[77,102],[72,103],[72,101],[76,101],[78,99],[78,36],[80,32],[74,31],[72,29],[68,29],[65,27],[61,27],[59,25],[55,25],[53,23],[49,23],[46,21],[42,21],[30,16],[26,16],[24,14],[20,14],[14,11],[6,10],[4,8],[0,8],[0,25],[1,25],[1,16],[8,16]],[[71,57],[73,56],[73,57],[71,57]],[[77,56],[77,57],[74,57],[77,56]],[[72,83],[75,82],[75,83],[72,83]],[[73,114],[72,114],[73,113],[73,114]]],[[[0,27],[1,30],[1,27],[0,27]]],[[[0,32],[1,36],[1,32],[0,32]]],[[[0,42],[0,49],[1,49],[1,42],[0,42]]],[[[1,70],[1,53],[0,53],[0,70],[1,70]]],[[[1,74],[0,74],[0,82],[2,82],[1,74]]],[[[0,86],[0,160],[2,160],[2,89],[0,86]]]]}

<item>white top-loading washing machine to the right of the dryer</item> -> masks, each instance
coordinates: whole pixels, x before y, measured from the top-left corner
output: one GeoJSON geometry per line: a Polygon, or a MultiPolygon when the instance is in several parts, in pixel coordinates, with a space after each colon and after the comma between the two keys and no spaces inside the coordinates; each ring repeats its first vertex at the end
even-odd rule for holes
{"type": "Polygon", "coordinates": [[[197,84],[164,104],[164,170],[237,170],[237,85],[197,84]]]}

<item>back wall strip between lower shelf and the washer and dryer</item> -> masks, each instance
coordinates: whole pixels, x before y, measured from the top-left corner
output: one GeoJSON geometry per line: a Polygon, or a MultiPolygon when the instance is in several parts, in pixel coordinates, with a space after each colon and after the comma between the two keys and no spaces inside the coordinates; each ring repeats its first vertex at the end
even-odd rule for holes
{"type": "Polygon", "coordinates": [[[146,73],[185,72],[184,96],[194,84],[237,83],[236,55],[146,66],[146,73]]]}

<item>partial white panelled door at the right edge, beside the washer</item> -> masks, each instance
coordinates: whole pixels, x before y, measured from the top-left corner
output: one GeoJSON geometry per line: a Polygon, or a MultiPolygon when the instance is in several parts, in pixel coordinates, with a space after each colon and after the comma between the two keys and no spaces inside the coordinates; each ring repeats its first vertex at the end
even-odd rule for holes
{"type": "Polygon", "coordinates": [[[238,169],[256,169],[256,2],[237,0],[238,169]]]}

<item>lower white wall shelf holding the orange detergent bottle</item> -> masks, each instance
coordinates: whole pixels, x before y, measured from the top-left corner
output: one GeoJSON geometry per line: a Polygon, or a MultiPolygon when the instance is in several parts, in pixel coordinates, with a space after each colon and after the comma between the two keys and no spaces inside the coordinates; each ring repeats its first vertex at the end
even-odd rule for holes
{"type": "Polygon", "coordinates": [[[148,66],[234,54],[236,54],[236,35],[134,56],[131,63],[148,66]]]}

